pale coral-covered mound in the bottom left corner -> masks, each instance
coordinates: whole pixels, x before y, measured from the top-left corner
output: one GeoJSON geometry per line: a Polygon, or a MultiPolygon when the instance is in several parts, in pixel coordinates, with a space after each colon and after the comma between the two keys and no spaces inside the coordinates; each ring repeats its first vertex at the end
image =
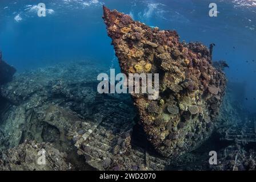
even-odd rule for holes
{"type": "Polygon", "coordinates": [[[59,152],[50,143],[26,140],[17,147],[0,152],[1,171],[68,171],[73,166],[66,162],[67,154],[59,152]],[[45,161],[39,157],[44,150],[45,161]],[[39,163],[38,163],[39,162],[39,163]],[[41,163],[44,164],[41,164],[41,163]]]}

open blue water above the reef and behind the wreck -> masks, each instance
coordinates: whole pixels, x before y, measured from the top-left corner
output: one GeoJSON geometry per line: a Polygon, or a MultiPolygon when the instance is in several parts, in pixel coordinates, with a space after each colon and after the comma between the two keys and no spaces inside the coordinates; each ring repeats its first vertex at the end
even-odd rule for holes
{"type": "Polygon", "coordinates": [[[103,4],[149,26],[177,30],[186,42],[215,43],[213,59],[227,61],[230,82],[246,84],[243,104],[255,112],[256,0],[1,0],[3,59],[19,72],[85,59],[110,66],[114,61],[118,67],[102,20],[103,4]],[[41,2],[47,12],[39,18],[36,6],[41,2]],[[208,15],[211,2],[217,3],[217,17],[208,15]]]}

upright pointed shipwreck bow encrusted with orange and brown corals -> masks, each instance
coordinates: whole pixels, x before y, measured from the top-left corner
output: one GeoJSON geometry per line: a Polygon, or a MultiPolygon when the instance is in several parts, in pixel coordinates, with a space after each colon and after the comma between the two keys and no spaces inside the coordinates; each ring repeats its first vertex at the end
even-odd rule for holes
{"type": "Polygon", "coordinates": [[[123,73],[159,73],[159,98],[132,94],[155,150],[176,156],[193,150],[214,129],[226,78],[200,43],[180,43],[175,31],[150,28],[103,7],[107,33],[123,73]]]}

